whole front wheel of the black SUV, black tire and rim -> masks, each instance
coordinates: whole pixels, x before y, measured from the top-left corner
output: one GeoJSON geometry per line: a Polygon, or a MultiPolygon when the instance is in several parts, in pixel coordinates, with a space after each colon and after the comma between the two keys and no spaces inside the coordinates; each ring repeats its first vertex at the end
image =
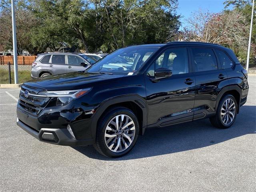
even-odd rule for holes
{"type": "Polygon", "coordinates": [[[111,108],[98,123],[94,148],[104,156],[121,157],[132,150],[138,134],[139,122],[134,112],[124,107],[111,108]]]}

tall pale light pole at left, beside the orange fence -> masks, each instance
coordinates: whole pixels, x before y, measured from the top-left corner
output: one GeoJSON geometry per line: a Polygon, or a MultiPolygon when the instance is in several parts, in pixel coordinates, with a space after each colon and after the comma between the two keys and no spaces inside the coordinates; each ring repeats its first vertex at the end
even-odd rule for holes
{"type": "Polygon", "coordinates": [[[17,64],[17,40],[16,40],[16,20],[15,4],[12,0],[12,44],[13,44],[13,65],[14,65],[14,83],[18,83],[18,64],[17,64]]]}

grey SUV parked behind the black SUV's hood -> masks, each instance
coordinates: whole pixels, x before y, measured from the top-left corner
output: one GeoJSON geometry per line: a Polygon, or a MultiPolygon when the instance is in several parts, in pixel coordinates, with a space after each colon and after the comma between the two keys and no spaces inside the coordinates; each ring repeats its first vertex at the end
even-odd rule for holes
{"type": "Polygon", "coordinates": [[[49,52],[38,54],[32,63],[32,78],[75,71],[84,71],[96,60],[82,53],[49,52]]]}

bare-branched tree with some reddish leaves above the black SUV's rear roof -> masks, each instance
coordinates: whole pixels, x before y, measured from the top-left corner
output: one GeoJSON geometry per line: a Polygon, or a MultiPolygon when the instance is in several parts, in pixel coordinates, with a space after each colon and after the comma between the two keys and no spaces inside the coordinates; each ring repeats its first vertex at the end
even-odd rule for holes
{"type": "Polygon", "coordinates": [[[183,39],[222,44],[231,48],[246,49],[249,25],[246,16],[238,10],[217,14],[199,10],[188,19],[183,39]]]}

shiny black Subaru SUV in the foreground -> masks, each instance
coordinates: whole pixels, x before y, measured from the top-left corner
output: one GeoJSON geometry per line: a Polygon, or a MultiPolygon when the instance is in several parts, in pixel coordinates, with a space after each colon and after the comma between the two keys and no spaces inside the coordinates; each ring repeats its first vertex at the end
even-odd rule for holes
{"type": "Polygon", "coordinates": [[[150,127],[210,118],[228,128],[247,94],[246,70],[228,48],[200,42],[130,46],[84,72],[24,83],[17,124],[43,142],[93,144],[117,157],[150,127]]]}

